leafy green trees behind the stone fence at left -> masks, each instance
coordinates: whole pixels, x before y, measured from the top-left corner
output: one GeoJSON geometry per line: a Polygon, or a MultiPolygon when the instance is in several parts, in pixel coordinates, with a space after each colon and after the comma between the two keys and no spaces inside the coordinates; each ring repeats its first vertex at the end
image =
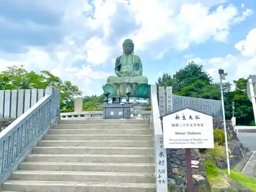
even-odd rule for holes
{"type": "Polygon", "coordinates": [[[70,81],[62,81],[49,71],[41,71],[37,74],[34,71],[28,72],[24,66],[12,66],[0,73],[0,89],[2,90],[46,89],[48,86],[60,89],[60,108],[63,106],[71,108],[72,105],[74,107],[73,98],[82,94],[70,81]]]}

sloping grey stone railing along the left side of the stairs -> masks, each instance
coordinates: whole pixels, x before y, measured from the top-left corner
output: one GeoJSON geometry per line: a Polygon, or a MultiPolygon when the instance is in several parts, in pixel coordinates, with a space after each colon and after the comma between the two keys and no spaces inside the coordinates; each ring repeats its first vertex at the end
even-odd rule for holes
{"type": "Polygon", "coordinates": [[[45,96],[0,133],[0,183],[16,169],[59,116],[60,92],[48,87],[45,96]]]}

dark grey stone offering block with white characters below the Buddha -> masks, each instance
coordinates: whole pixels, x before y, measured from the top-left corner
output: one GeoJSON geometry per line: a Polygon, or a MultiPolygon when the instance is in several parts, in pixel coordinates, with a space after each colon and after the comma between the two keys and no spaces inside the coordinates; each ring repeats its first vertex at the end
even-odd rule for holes
{"type": "Polygon", "coordinates": [[[103,119],[130,119],[133,104],[101,104],[103,119]]]}

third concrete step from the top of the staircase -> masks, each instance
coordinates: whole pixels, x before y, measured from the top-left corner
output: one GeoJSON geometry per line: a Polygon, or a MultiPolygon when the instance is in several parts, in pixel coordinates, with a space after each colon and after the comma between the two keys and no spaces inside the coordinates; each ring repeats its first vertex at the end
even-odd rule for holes
{"type": "Polygon", "coordinates": [[[131,134],[131,135],[150,135],[150,129],[55,129],[49,130],[48,134],[57,135],[94,135],[94,134],[131,134]]]}

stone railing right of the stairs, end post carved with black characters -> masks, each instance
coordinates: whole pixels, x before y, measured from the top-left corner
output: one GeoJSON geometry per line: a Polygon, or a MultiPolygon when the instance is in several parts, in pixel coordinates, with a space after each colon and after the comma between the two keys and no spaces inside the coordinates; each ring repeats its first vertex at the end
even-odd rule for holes
{"type": "Polygon", "coordinates": [[[157,100],[157,86],[151,85],[151,129],[154,136],[154,157],[157,192],[167,192],[166,148],[163,148],[163,131],[157,100]]]}

